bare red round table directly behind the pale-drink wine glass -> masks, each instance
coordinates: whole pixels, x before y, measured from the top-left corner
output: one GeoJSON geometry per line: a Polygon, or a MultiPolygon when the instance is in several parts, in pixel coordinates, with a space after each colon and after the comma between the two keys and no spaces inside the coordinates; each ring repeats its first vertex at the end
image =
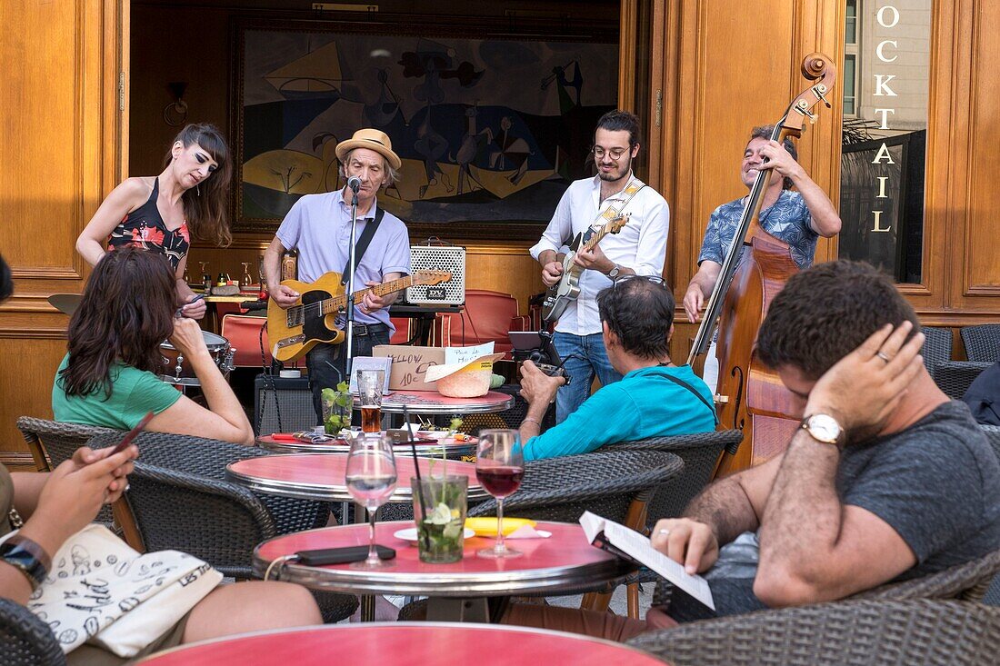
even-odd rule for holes
{"type": "MultiPolygon", "coordinates": [[[[435,473],[444,466],[440,460],[420,458],[420,473],[429,474],[431,465],[435,473]]],[[[301,453],[280,456],[247,458],[226,466],[226,476],[251,490],[283,497],[319,500],[323,502],[352,502],[354,498],[344,484],[347,455],[339,453],[301,453]]],[[[396,489],[389,502],[413,501],[410,477],[414,473],[413,458],[396,456],[396,489]]],[[[489,497],[476,480],[476,466],[472,463],[449,460],[448,474],[469,477],[469,498],[489,497]]]]}

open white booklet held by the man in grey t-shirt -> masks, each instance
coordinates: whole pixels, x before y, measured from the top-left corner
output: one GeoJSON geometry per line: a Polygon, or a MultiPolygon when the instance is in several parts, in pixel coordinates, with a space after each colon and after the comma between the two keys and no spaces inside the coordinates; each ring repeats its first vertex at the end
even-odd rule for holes
{"type": "Polygon", "coordinates": [[[649,567],[701,603],[715,610],[715,602],[712,601],[712,590],[708,587],[708,581],[697,574],[687,573],[684,571],[684,565],[674,562],[654,549],[649,543],[649,537],[589,511],[584,511],[583,515],[580,516],[580,525],[583,526],[583,532],[587,535],[587,541],[596,548],[649,567]]]}

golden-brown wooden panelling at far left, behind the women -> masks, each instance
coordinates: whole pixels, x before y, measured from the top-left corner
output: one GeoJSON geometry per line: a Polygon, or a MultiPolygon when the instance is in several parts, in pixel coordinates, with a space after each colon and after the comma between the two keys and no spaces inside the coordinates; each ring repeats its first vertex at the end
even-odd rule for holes
{"type": "Polygon", "coordinates": [[[0,305],[0,461],[30,465],[18,416],[51,418],[67,317],[79,293],[76,237],[124,172],[127,0],[4,2],[0,8],[0,253],[15,293],[0,305]]]}

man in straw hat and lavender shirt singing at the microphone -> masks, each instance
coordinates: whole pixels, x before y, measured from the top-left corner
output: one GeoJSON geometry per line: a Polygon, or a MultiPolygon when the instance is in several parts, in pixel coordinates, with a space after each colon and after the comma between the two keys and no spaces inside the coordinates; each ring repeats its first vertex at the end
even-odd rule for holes
{"type": "MultiPolygon", "coordinates": [[[[402,161],[392,150],[389,137],[380,130],[360,129],[337,144],[340,174],[357,178],[357,245],[355,285],[369,287],[389,282],[410,272],[410,239],[406,225],[378,207],[376,195],[399,178],[402,161]],[[367,231],[367,234],[366,234],[367,231]],[[365,240],[367,236],[367,247],[365,240]],[[363,253],[362,253],[363,250],[363,253]]],[[[298,252],[298,279],[315,282],[324,273],[345,273],[349,266],[351,201],[349,185],[336,192],[308,194],[292,206],[264,254],[264,270],[271,298],[282,308],[295,305],[299,293],[279,285],[281,256],[298,252]]],[[[358,286],[355,286],[358,291],[358,286]]],[[[372,347],[389,343],[393,328],[388,306],[398,292],[382,297],[367,292],[354,306],[354,356],[371,355],[372,347]]],[[[347,354],[342,345],[318,344],[306,355],[313,408],[322,422],[320,393],[345,377],[347,354]]]]}

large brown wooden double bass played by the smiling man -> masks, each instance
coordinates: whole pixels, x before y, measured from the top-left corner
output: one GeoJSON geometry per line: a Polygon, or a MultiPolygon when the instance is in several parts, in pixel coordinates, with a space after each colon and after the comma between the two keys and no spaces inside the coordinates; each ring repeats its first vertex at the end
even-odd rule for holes
{"type": "MultiPolygon", "coordinates": [[[[788,137],[801,137],[806,118],[815,122],[813,108],[819,102],[830,106],[826,96],[836,78],[830,58],[822,53],[806,56],[802,75],[815,83],[799,93],[775,123],[770,138],[778,143],[788,137]]],[[[736,238],[723,260],[688,356],[690,365],[705,353],[718,320],[719,382],[715,402],[719,427],[742,430],[743,441],[734,454],[723,454],[717,476],[778,455],[799,425],[799,417],[792,413],[791,392],[777,372],[761,363],[754,353],[757,332],[771,301],[788,278],[799,271],[788,245],[760,226],[760,209],[771,177],[770,169],[757,173],[736,238]]]]}

